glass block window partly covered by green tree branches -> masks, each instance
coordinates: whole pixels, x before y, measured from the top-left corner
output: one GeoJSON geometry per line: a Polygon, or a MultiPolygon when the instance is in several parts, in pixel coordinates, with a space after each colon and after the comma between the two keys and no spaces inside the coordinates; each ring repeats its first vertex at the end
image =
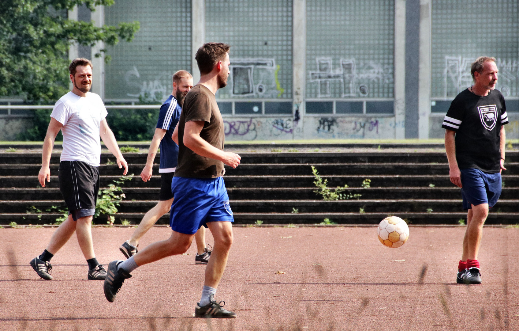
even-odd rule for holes
{"type": "Polygon", "coordinates": [[[104,12],[105,24],[141,24],[132,42],[107,47],[105,98],[166,100],[173,73],[191,71],[191,1],[118,0],[104,12]]]}

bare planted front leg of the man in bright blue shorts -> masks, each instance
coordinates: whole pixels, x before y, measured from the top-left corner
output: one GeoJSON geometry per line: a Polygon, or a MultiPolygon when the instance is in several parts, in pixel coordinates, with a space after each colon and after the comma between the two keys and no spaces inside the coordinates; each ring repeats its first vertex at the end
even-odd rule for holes
{"type": "Polygon", "coordinates": [[[207,226],[213,234],[214,247],[207,263],[206,281],[203,285],[217,288],[227,265],[230,246],[233,244],[233,227],[231,222],[209,222],[207,226]]]}

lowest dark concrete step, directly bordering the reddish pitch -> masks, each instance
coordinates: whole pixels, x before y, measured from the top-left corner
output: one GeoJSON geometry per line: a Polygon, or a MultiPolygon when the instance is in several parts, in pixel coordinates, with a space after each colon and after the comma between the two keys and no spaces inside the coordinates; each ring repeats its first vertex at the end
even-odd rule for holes
{"type": "MultiPolygon", "coordinates": [[[[144,213],[117,213],[115,223],[125,219],[138,224],[144,213]]],[[[458,224],[466,221],[467,213],[234,213],[236,224],[254,224],[257,220],[265,224],[312,224],[320,223],[325,218],[338,224],[377,224],[387,216],[398,216],[412,224],[458,224]]],[[[23,214],[1,213],[0,224],[16,222],[18,224],[52,224],[61,214],[23,214]]],[[[519,213],[490,213],[485,224],[515,224],[519,213]]],[[[94,219],[96,224],[106,224],[105,216],[94,219]]],[[[169,224],[169,215],[163,215],[157,224],[169,224]]]]}

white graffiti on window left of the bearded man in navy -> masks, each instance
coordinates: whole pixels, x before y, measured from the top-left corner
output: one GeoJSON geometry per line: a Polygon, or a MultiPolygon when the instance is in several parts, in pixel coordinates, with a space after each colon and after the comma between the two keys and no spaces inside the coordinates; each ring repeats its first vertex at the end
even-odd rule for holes
{"type": "Polygon", "coordinates": [[[165,101],[169,96],[168,88],[169,86],[165,84],[171,79],[171,75],[165,71],[157,74],[153,81],[137,83],[131,80],[131,77],[134,76],[136,78],[140,78],[139,70],[137,67],[133,67],[132,70],[129,70],[125,74],[125,81],[128,87],[139,90],[138,93],[132,94],[128,93],[129,97],[138,97],[144,101],[165,101]]]}

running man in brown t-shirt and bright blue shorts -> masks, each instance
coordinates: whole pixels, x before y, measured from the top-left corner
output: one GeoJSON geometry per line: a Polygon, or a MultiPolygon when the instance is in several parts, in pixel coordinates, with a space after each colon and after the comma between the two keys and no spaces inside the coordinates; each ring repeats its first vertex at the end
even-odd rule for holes
{"type": "Polygon", "coordinates": [[[168,240],[155,242],[126,261],[110,262],[104,282],[104,294],[110,302],[115,300],[124,280],[131,277],[130,272],[143,264],[185,253],[197,230],[206,226],[213,234],[214,248],[195,316],[236,317],[236,313],[214,300],[233,243],[234,218],[222,178],[224,164],[233,168],[240,164],[238,154],[223,151],[224,124],[214,96],[218,88],[227,85],[229,48],[222,43],[207,43],[195,56],[200,81],[188,92],[173,132],[173,140],[179,144],[179,164],[172,181],[173,233],[168,240]]]}

